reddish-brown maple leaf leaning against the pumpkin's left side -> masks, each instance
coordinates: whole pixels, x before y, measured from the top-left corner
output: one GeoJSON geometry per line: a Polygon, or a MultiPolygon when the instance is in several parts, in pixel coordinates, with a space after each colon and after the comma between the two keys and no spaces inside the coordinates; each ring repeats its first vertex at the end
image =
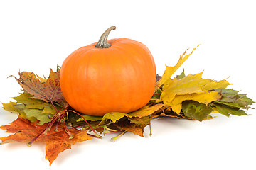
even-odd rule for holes
{"type": "MultiPolygon", "coordinates": [[[[19,72],[20,78],[15,79],[21,85],[23,91],[33,95],[32,98],[40,99],[46,102],[60,103],[63,107],[68,106],[60,90],[60,71],[53,72],[50,69],[48,79],[41,81],[41,77],[36,77],[33,72],[19,72]]],[[[14,76],[10,76],[14,77],[14,76]]]]}

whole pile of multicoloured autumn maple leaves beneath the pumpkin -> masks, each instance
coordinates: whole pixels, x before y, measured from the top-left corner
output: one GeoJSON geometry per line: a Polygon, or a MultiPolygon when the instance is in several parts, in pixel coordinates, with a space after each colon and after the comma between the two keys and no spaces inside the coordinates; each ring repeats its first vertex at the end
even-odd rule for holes
{"type": "Polygon", "coordinates": [[[82,118],[68,106],[60,91],[59,67],[57,72],[50,70],[48,79],[33,72],[21,72],[15,79],[23,93],[13,98],[16,102],[2,103],[6,111],[18,113],[18,118],[11,125],[0,127],[14,133],[0,137],[1,144],[45,142],[46,159],[52,164],[60,152],[76,142],[100,138],[98,134],[117,133],[113,140],[125,132],[143,137],[144,128],[149,125],[151,135],[151,120],[156,118],[202,121],[213,118],[210,113],[214,112],[247,115],[245,111],[253,101],[239,91],[226,89],[230,85],[226,80],[202,79],[203,72],[187,76],[182,72],[170,78],[192,53],[184,52],[174,67],[166,66],[163,76],[157,76],[154,96],[146,106],[132,113],[113,112],[103,117],[82,115],[82,118]]]}

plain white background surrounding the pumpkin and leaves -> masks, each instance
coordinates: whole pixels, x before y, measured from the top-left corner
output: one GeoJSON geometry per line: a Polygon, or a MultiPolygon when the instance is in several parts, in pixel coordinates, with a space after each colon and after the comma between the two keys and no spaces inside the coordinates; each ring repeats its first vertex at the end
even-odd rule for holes
{"type": "MultiPolygon", "coordinates": [[[[256,100],[254,1],[0,1],[0,101],[21,92],[18,71],[48,76],[78,47],[109,38],[131,38],[151,50],[157,73],[174,65],[188,47],[200,47],[176,72],[204,70],[203,77],[226,79],[256,100]]],[[[255,106],[254,106],[255,107],[255,106]]],[[[127,133],[74,145],[49,168],[44,145],[0,145],[1,167],[9,169],[256,169],[256,115],[203,123],[166,118],[152,123],[152,137],[127,133]]],[[[16,115],[0,109],[0,125],[16,115]]],[[[0,130],[0,136],[6,136],[0,130]]]]}

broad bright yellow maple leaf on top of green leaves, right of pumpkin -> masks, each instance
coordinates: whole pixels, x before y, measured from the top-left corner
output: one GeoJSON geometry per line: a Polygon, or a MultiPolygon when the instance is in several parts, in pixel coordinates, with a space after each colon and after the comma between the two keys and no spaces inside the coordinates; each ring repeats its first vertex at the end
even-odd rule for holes
{"type": "Polygon", "coordinates": [[[160,99],[165,106],[169,106],[174,112],[181,112],[181,103],[183,101],[193,100],[208,104],[220,99],[220,94],[213,89],[225,89],[228,81],[214,81],[211,79],[202,79],[202,74],[188,74],[183,79],[168,79],[164,83],[160,99]]]}

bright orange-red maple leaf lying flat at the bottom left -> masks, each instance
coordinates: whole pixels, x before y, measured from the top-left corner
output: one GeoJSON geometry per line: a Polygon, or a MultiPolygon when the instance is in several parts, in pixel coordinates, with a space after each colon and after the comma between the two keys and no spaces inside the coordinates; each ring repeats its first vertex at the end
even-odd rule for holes
{"type": "MultiPolygon", "coordinates": [[[[36,122],[31,123],[29,120],[21,118],[21,116],[18,115],[18,118],[14,120],[11,125],[0,127],[2,130],[6,130],[6,132],[14,133],[14,135],[9,135],[8,137],[0,137],[2,141],[1,144],[9,142],[29,142],[37,137],[38,134],[41,134],[46,127],[47,124],[38,125],[36,122]]],[[[92,139],[92,137],[87,135],[87,130],[70,128],[69,131],[73,135],[72,139],[70,139],[70,135],[65,132],[65,128],[63,128],[62,125],[58,126],[58,130],[51,128],[46,135],[40,135],[36,138],[36,141],[46,143],[46,159],[48,159],[50,165],[58,157],[60,152],[63,152],[65,149],[71,149],[71,145],[74,145],[76,142],[92,139]]]]}

